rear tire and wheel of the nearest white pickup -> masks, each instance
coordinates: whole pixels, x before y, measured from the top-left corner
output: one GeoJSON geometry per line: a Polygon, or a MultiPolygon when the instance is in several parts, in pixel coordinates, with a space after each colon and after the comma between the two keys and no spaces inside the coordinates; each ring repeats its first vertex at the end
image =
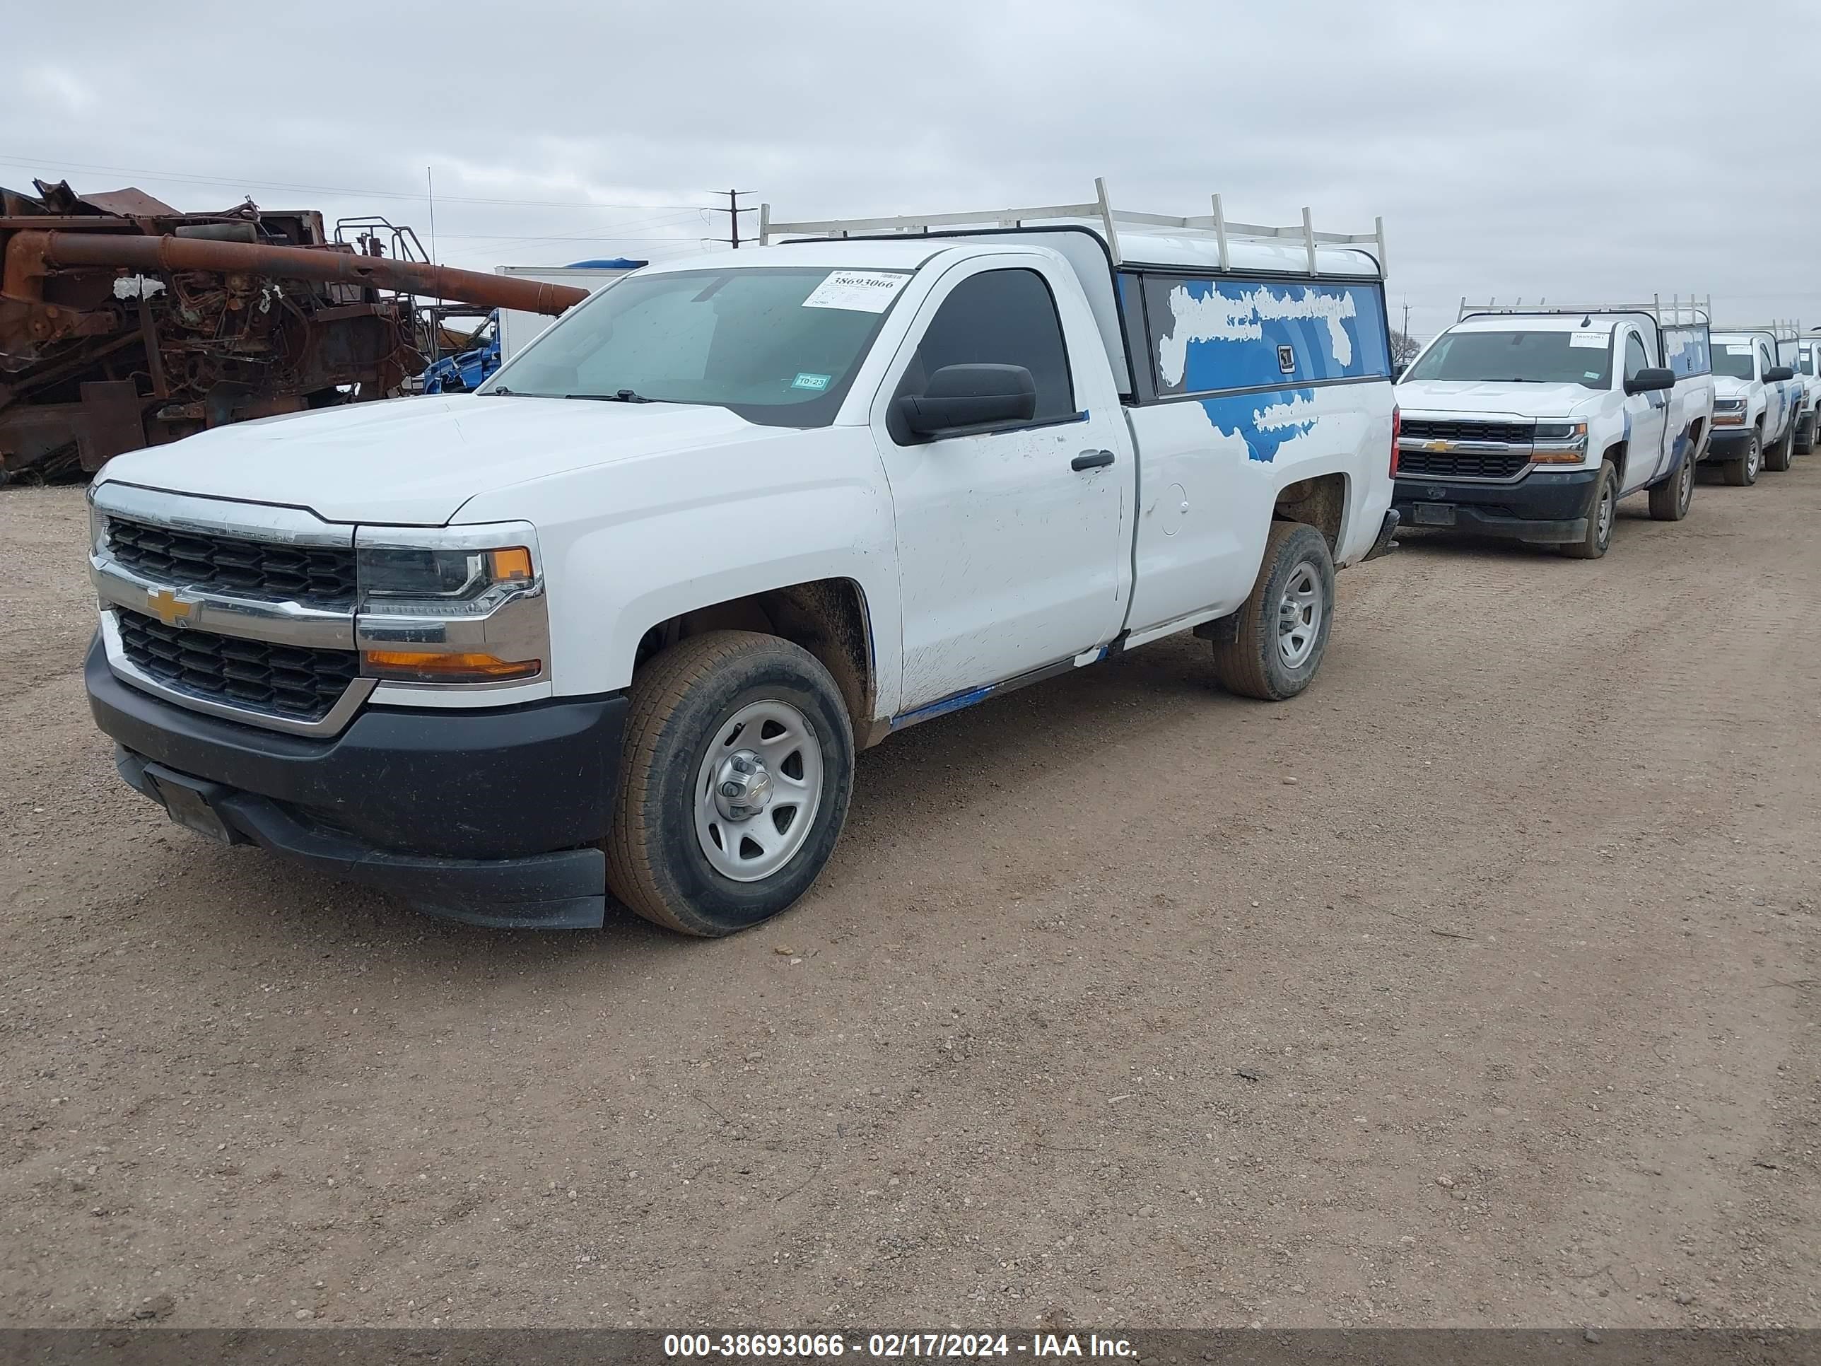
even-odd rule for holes
{"type": "Polygon", "coordinates": [[[1227,692],[1286,701],[1315,681],[1335,619],[1335,561],[1328,537],[1275,521],[1251,596],[1233,614],[1235,637],[1215,641],[1215,678],[1227,692]]]}

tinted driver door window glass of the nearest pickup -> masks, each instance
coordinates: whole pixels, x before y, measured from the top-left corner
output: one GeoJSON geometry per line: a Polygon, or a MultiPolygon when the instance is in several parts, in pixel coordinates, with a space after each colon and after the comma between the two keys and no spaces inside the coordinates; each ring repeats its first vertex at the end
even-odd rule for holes
{"type": "Polygon", "coordinates": [[[1074,384],[1062,319],[1034,270],[969,275],[941,301],[905,370],[900,393],[918,393],[943,366],[1023,366],[1036,384],[1036,421],[1073,417],[1074,384]]]}

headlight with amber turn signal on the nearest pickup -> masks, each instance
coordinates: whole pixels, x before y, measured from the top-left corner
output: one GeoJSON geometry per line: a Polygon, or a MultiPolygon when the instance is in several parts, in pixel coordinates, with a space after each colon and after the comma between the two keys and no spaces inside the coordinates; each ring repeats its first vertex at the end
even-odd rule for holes
{"type": "Polygon", "coordinates": [[[550,659],[537,535],[524,523],[355,534],[361,672],[401,683],[543,678],[550,659]]]}

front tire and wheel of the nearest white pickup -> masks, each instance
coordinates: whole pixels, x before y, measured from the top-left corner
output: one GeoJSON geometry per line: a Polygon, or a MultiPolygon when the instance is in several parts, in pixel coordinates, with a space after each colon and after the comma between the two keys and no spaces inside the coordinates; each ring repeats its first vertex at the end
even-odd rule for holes
{"type": "Polygon", "coordinates": [[[821,872],[854,785],[854,732],[809,650],[692,636],[632,679],[606,883],[683,934],[770,920],[821,872]]]}

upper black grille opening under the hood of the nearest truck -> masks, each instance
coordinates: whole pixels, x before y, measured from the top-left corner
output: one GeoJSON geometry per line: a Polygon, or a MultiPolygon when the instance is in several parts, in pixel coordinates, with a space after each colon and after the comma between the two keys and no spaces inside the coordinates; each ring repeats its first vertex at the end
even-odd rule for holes
{"type": "Polygon", "coordinates": [[[353,548],[295,546],[107,519],[107,550],[126,568],[178,588],[353,608],[353,548]]]}

